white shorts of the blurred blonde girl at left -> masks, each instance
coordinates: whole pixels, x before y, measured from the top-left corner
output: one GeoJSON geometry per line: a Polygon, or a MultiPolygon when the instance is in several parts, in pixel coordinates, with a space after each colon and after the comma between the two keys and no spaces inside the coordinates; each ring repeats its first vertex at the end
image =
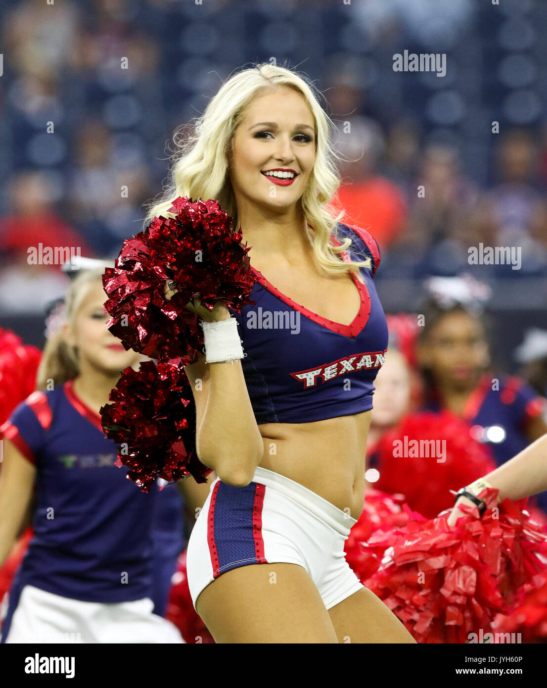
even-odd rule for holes
{"type": "Polygon", "coordinates": [[[83,602],[25,585],[5,643],[184,643],[148,598],[83,602]]]}

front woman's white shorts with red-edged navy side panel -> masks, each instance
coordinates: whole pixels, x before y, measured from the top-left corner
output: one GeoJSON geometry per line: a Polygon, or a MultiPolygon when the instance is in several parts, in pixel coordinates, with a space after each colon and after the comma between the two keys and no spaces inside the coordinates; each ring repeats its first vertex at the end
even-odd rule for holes
{"type": "Polygon", "coordinates": [[[325,607],[334,607],[364,588],[344,555],[355,523],[320,495],[260,466],[245,487],[217,477],[188,540],[194,609],[201,591],[226,571],[276,562],[305,568],[325,607]]]}

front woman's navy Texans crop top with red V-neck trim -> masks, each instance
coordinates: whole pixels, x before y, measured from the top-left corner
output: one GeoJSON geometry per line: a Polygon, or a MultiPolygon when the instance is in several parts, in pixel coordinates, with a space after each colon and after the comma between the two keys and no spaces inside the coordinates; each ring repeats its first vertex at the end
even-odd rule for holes
{"type": "MultiPolygon", "coordinates": [[[[359,312],[342,325],[311,312],[278,291],[261,272],[238,321],[245,357],[243,375],[256,422],[299,423],[349,416],[372,409],[372,384],[388,347],[388,326],[372,283],[379,261],[375,239],[356,226],[337,225],[337,237],[352,243],[342,254],[372,259],[360,268],[365,283],[352,274],[361,294],[359,312]]],[[[334,244],[339,245],[332,236],[334,244]]]]}

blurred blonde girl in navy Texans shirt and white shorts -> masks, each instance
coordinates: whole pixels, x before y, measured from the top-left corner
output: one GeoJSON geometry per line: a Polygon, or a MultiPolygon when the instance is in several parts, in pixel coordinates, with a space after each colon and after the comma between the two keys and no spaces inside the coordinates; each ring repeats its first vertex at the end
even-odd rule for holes
{"type": "MultiPolygon", "coordinates": [[[[120,371],[143,360],[105,327],[103,270],[74,280],[66,323],[47,342],[38,369],[43,391],[21,402],[1,428],[0,563],[36,484],[34,537],[10,590],[3,643],[183,642],[175,626],[153,614],[157,486],[144,494],[126,480],[100,423],[120,371]]],[[[190,503],[191,480],[183,483],[190,503]]],[[[203,490],[195,482],[193,488],[203,490]]]]}

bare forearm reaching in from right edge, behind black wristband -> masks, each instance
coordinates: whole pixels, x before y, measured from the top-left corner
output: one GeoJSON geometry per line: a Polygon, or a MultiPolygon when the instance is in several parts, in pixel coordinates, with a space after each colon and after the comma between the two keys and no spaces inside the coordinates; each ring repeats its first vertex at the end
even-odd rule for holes
{"type": "Polygon", "coordinates": [[[547,490],[547,435],[540,437],[495,471],[483,476],[500,491],[498,499],[531,497],[547,490]]]}

